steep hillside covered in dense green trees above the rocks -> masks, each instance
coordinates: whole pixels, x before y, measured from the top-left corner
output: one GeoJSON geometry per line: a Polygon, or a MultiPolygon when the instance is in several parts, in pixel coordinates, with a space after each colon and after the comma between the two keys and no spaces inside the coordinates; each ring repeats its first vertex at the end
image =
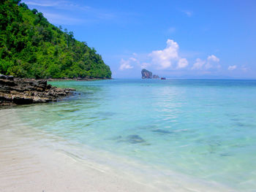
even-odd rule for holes
{"type": "Polygon", "coordinates": [[[16,77],[110,78],[94,48],[61,31],[37,9],[19,0],[0,0],[0,74],[16,77]]]}

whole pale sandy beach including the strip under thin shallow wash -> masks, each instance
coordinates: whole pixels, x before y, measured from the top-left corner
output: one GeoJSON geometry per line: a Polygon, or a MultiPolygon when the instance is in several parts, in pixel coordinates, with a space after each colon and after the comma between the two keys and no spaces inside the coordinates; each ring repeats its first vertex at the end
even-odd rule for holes
{"type": "MultiPolygon", "coordinates": [[[[0,191],[223,191],[222,186],[122,166],[80,161],[23,127],[16,109],[0,110],[0,191]],[[13,126],[15,125],[15,126],[13,126]],[[49,147],[51,146],[51,147],[49,147]],[[116,168],[116,169],[113,169],[116,168]],[[213,187],[214,186],[214,187],[213,187]]],[[[60,148],[61,149],[61,148],[60,148]]],[[[75,148],[73,148],[75,150],[75,148]]],[[[96,152],[91,151],[94,154],[96,152]]],[[[86,154],[87,155],[87,154],[86,154]]],[[[104,156],[103,156],[104,157],[104,156]]],[[[101,158],[100,154],[98,158],[101,158]]],[[[116,160],[118,162],[118,160],[116,160]]],[[[125,164],[125,163],[124,163],[125,164]]],[[[224,190],[230,191],[230,190],[224,190]]]]}

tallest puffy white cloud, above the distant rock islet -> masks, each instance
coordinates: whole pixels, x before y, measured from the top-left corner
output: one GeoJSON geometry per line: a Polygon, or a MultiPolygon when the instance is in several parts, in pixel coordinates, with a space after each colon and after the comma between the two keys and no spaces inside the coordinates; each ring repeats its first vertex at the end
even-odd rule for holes
{"type": "Polygon", "coordinates": [[[167,39],[166,48],[163,50],[154,50],[148,56],[152,59],[152,64],[158,66],[159,69],[167,69],[177,64],[177,68],[184,68],[188,65],[186,58],[178,56],[178,43],[172,39],[167,39]]]}

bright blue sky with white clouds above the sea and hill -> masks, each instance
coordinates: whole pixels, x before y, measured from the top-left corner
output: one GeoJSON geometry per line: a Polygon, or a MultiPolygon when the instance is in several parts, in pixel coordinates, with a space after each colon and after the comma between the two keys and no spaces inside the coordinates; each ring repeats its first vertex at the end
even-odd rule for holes
{"type": "Polygon", "coordinates": [[[23,0],[73,31],[113,78],[256,79],[255,0],[23,0]]]}

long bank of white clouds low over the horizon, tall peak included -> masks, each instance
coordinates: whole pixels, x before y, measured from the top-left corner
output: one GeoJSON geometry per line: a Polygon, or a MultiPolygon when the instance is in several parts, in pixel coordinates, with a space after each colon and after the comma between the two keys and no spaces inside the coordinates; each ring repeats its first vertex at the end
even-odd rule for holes
{"type": "MultiPolygon", "coordinates": [[[[167,39],[166,47],[162,50],[153,50],[142,57],[138,53],[133,53],[132,57],[124,60],[121,58],[120,70],[132,69],[135,67],[140,69],[151,68],[153,70],[187,70],[209,73],[217,71],[221,68],[219,58],[216,55],[208,55],[206,59],[197,58],[192,66],[189,66],[187,58],[182,58],[179,53],[178,43],[173,39],[167,39]]],[[[229,70],[236,69],[230,66],[229,70]]]]}

